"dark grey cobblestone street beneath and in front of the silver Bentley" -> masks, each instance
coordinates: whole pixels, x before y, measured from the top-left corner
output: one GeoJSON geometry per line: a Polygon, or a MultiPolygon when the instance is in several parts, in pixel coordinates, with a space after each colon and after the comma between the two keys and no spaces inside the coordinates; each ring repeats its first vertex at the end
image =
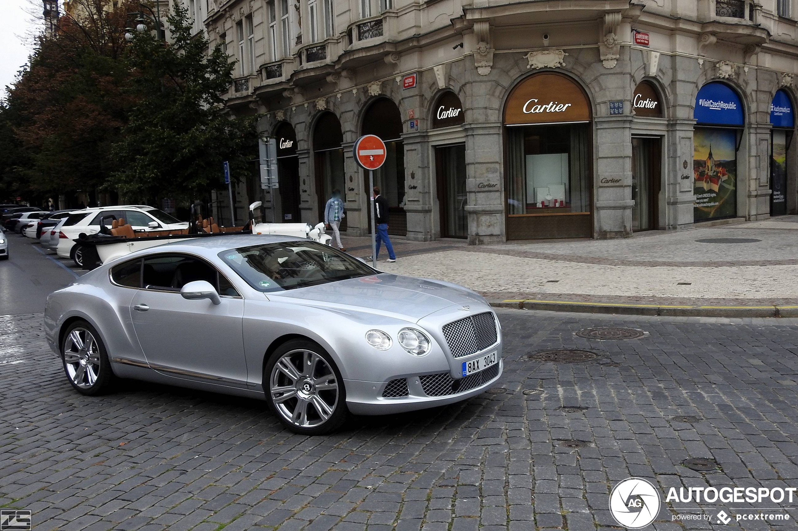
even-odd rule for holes
{"type": "MultiPolygon", "coordinates": [[[[32,510],[34,529],[64,531],[583,531],[618,528],[608,494],[629,476],[662,490],[798,486],[793,320],[499,314],[501,388],[426,412],[355,417],[313,438],[283,430],[255,400],[134,381],[81,396],[45,346],[41,314],[2,317],[0,506],[32,510]],[[646,336],[574,335],[595,326],[646,336]],[[563,348],[598,357],[529,358],[563,348]],[[717,467],[693,471],[687,458],[717,467]]],[[[674,522],[701,510],[668,503],[653,527],[796,529],[715,517],[769,507],[705,504],[710,521],[674,522]]],[[[776,512],[796,518],[796,508],[776,512]]]]}

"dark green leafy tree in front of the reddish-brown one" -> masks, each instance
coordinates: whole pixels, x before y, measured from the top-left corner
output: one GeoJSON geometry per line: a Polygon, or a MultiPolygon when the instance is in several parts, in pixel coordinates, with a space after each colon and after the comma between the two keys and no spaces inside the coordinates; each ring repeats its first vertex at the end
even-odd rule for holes
{"type": "Polygon", "coordinates": [[[223,185],[222,164],[247,171],[254,118],[234,118],[221,94],[234,63],[221,46],[192,33],[186,8],[175,2],[168,17],[171,41],[136,33],[128,48],[128,92],[136,100],[113,146],[113,183],[133,197],[197,197],[223,185]]]}

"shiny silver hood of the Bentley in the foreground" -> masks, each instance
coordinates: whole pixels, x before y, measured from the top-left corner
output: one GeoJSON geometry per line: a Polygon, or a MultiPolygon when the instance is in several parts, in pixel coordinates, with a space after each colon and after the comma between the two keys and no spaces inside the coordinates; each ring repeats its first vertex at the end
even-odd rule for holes
{"type": "Polygon", "coordinates": [[[389,273],[271,292],[267,295],[270,298],[279,296],[339,310],[401,315],[413,321],[454,304],[467,306],[485,303],[480,295],[465,287],[389,273]]]}

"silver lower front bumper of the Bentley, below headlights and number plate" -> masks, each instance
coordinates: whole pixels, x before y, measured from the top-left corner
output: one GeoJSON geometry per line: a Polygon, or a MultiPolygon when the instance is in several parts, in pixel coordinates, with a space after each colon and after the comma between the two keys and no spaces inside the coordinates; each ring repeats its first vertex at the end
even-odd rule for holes
{"type": "Polygon", "coordinates": [[[452,378],[448,376],[448,373],[410,376],[406,378],[407,395],[395,398],[383,396],[385,388],[391,382],[344,380],[346,405],[355,415],[387,415],[435,408],[479,395],[491,388],[503,372],[504,361],[500,358],[496,365],[465,378],[452,378]],[[496,369],[493,369],[494,367],[496,369]],[[479,376],[479,381],[469,381],[470,378],[477,376],[479,376]],[[425,378],[423,383],[422,378],[425,378]],[[447,388],[447,385],[452,385],[452,387],[447,388]],[[471,387],[471,385],[476,386],[471,387]],[[460,388],[466,389],[460,391],[460,388]]]}

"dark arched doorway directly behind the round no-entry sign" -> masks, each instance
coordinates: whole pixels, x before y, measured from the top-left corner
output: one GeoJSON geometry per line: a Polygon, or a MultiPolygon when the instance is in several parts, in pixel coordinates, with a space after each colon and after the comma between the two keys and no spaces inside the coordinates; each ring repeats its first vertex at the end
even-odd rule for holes
{"type": "MultiPolygon", "coordinates": [[[[390,221],[389,234],[407,234],[407,214],[405,213],[405,146],[401,139],[401,113],[396,103],[388,98],[374,101],[363,115],[361,134],[377,135],[385,142],[387,156],[385,164],[374,172],[374,185],[380,187],[381,194],[388,200],[390,221]]],[[[368,174],[364,174],[366,195],[371,197],[368,174]]],[[[370,203],[369,203],[370,205],[370,203]]],[[[372,208],[369,206],[369,208],[372,208]]],[[[369,231],[371,230],[371,215],[369,231]]]]}

